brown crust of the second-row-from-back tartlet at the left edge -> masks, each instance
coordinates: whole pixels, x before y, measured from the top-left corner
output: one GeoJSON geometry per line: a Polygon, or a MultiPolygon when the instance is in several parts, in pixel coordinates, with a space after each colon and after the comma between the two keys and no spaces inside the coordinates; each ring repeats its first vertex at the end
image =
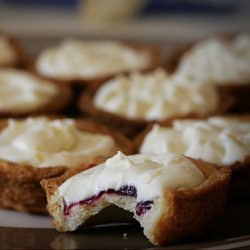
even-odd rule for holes
{"type": "Polygon", "coordinates": [[[69,107],[73,97],[72,89],[65,84],[58,84],[53,81],[48,81],[48,83],[53,84],[58,88],[56,96],[54,96],[48,103],[40,107],[34,108],[34,110],[30,111],[15,112],[14,110],[13,111],[2,110],[0,111],[0,118],[25,117],[28,115],[56,114],[65,111],[69,107]]]}

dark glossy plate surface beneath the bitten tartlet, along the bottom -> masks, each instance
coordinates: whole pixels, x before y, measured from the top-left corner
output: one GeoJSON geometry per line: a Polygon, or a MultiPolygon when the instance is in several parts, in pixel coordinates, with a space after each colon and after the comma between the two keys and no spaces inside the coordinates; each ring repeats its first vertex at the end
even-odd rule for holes
{"type": "MultiPolygon", "coordinates": [[[[217,227],[206,236],[185,242],[155,247],[144,237],[142,229],[115,208],[104,210],[98,225],[85,226],[73,233],[59,233],[45,215],[28,215],[0,210],[0,249],[249,249],[250,203],[229,205],[217,227]],[[116,223],[103,221],[107,214],[116,223]]],[[[91,223],[91,222],[90,222],[91,223]]]]}

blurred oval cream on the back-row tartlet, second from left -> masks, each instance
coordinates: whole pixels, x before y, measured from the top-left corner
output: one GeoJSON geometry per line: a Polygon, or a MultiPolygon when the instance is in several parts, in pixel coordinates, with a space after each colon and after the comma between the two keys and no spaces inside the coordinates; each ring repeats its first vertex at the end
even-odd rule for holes
{"type": "Polygon", "coordinates": [[[60,79],[95,79],[147,68],[150,55],[119,42],[65,40],[40,53],[36,69],[60,79]]]}

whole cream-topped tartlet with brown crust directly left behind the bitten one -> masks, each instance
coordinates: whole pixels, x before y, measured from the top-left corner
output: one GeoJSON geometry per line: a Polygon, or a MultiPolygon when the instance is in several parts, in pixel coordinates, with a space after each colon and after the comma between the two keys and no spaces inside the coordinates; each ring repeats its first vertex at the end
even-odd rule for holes
{"type": "Polygon", "coordinates": [[[0,207],[24,212],[47,212],[42,179],[133,152],[123,135],[90,120],[9,119],[0,128],[0,207]]]}

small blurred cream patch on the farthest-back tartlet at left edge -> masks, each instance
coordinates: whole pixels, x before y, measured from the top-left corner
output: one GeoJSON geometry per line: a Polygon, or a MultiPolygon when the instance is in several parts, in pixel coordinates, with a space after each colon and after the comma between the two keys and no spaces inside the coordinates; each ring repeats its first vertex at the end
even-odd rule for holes
{"type": "Polygon", "coordinates": [[[17,54],[5,36],[0,35],[0,65],[15,62],[17,54]]]}

